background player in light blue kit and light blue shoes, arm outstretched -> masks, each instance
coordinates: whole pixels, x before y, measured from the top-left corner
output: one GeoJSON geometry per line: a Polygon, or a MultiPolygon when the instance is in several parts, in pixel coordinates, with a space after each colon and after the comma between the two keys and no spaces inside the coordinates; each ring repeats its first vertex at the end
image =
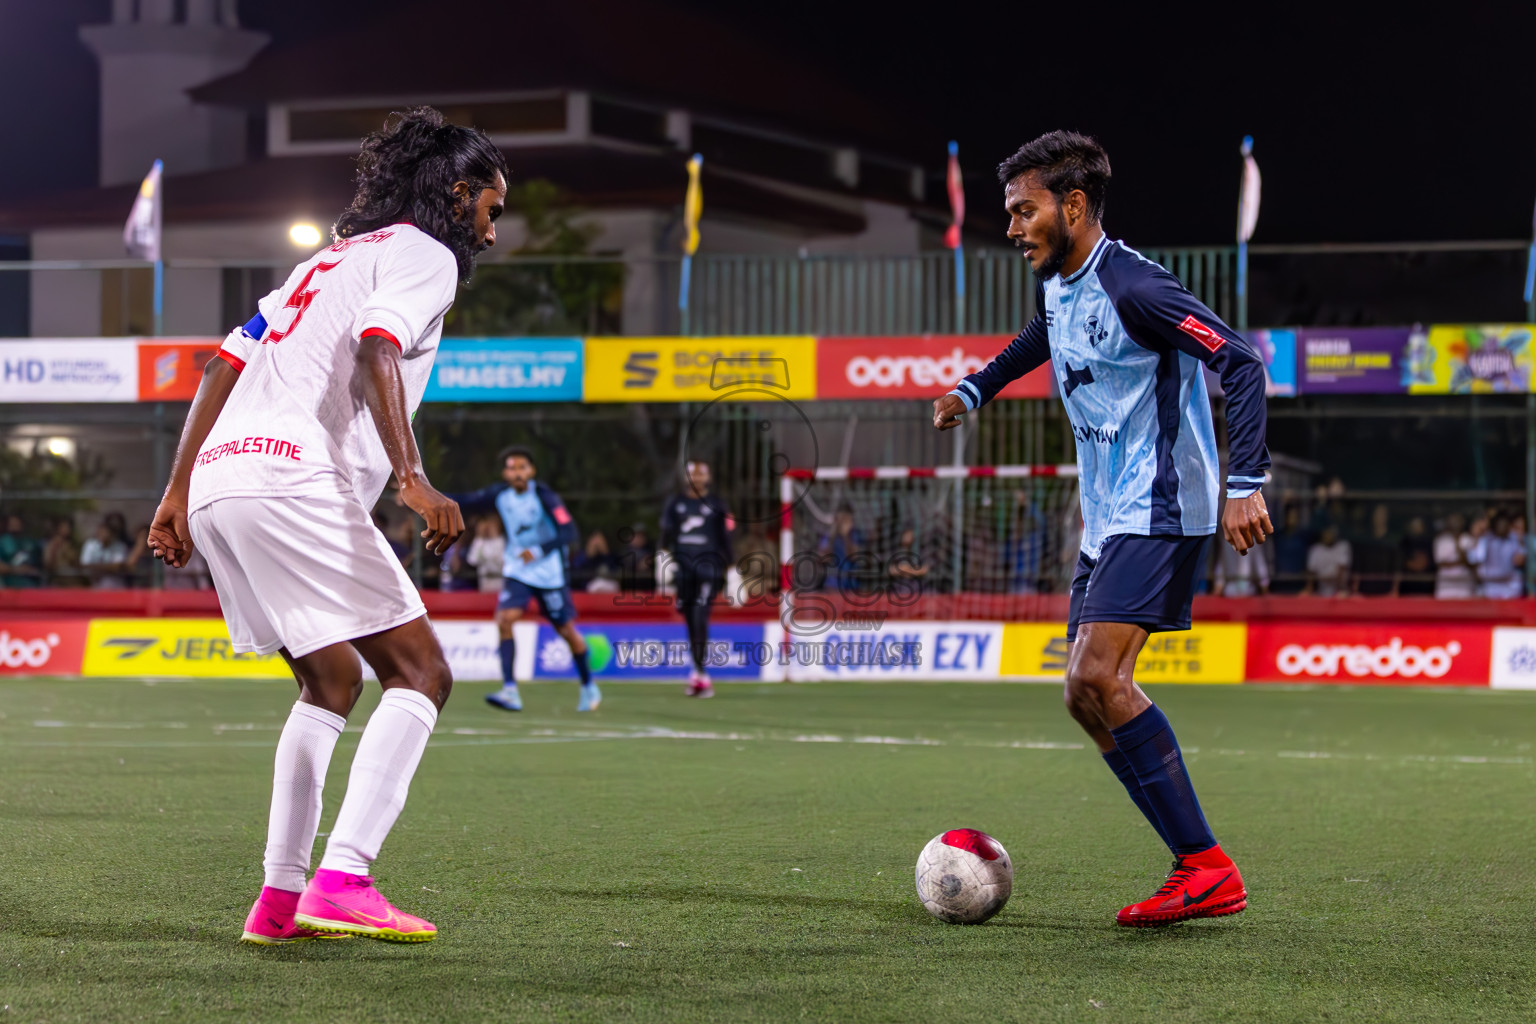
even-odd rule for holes
{"type": "Polygon", "coordinates": [[[502,563],[501,597],[496,599],[496,628],[501,631],[501,689],[485,694],[488,703],[505,711],[522,711],[515,663],[518,654],[511,626],[522,619],[530,600],[554,631],[570,645],[581,676],[581,702],[576,711],[596,711],[602,702],[598,683],[591,682],[587,640],[576,631],[576,606],[565,568],[565,547],[578,539],[576,522],[561,496],[533,479],[538,471],[527,448],[501,453],[501,484],[456,494],[464,511],[495,511],[507,534],[507,560],[502,563]]]}

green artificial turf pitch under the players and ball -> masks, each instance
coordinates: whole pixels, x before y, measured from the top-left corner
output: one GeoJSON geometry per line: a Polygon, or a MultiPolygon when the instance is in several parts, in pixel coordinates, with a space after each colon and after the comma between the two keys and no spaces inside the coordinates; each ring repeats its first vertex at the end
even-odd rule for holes
{"type": "Polygon", "coordinates": [[[1169,858],[1052,686],[485,689],[376,866],[439,938],[255,949],[292,689],[0,682],[0,1024],[1536,1019],[1536,694],[1149,688],[1250,898],[1137,932],[1169,858]],[[912,892],[955,826],[1015,864],[980,927],[912,892]]]}

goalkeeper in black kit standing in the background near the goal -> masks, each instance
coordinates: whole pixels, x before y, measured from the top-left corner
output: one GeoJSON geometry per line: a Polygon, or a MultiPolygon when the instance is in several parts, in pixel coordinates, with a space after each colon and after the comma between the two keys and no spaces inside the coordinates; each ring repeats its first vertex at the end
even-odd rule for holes
{"type": "Polygon", "coordinates": [[[725,502],[710,493],[710,464],[690,462],[688,487],[662,510],[662,548],[677,565],[674,577],[677,611],[688,623],[690,697],[713,697],[710,683],[710,605],[725,590],[725,570],[733,562],[731,530],[725,502]]]}

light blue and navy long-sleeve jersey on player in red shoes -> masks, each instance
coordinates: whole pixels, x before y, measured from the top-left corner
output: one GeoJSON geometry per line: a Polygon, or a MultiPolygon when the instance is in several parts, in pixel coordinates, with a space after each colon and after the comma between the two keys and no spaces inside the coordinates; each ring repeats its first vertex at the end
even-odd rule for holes
{"type": "Polygon", "coordinates": [[[1038,313],[951,391],[968,410],[1051,359],[1077,438],[1083,553],[1107,537],[1217,530],[1220,457],[1201,364],[1227,393],[1230,494],[1264,482],[1264,365],[1167,270],[1100,238],[1069,278],[1037,292],[1038,313]]]}

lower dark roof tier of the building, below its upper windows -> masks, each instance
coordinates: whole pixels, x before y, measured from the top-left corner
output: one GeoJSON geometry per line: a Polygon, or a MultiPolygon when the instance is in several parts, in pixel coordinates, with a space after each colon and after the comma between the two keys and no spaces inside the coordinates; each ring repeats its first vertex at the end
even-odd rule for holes
{"type": "MultiPolygon", "coordinates": [[[[547,178],[587,209],[680,206],[687,175],[680,154],[601,146],[515,149],[513,181],[547,178]]],[[[329,223],[352,201],[352,157],[276,157],[220,170],[170,175],[164,183],[167,224],[261,221],[310,216],[329,223]]],[[[78,189],[0,206],[0,230],[121,224],[138,186],[78,189]]],[[[740,216],[817,233],[857,233],[863,215],[703,170],[705,218],[740,216]]]]}

